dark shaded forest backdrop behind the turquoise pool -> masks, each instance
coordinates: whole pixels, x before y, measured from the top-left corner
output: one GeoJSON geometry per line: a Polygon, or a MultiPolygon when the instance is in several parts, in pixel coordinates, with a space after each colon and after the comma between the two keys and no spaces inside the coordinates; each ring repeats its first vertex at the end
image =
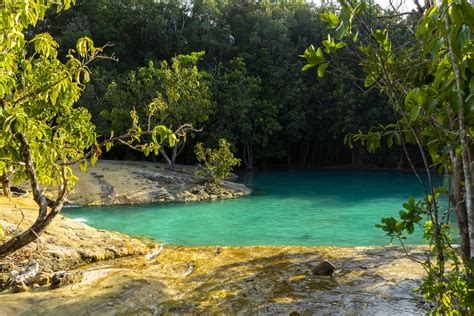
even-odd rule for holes
{"type": "MultiPolygon", "coordinates": [[[[202,132],[189,135],[180,163],[195,162],[195,143],[215,147],[226,138],[247,167],[401,166],[399,148],[368,155],[344,145],[348,133],[393,121],[387,98],[363,88],[350,52],[338,55],[337,69],[330,65],[331,76],[301,71],[298,55],[327,34],[320,13],[304,1],[78,0],[70,10],[50,12],[35,32],[52,33],[63,54],[82,36],[113,45],[106,52],[119,61],[93,64],[79,101],[104,134],[129,120],[134,102],[151,101],[156,92],[145,88],[159,85],[147,86],[160,61],[172,67],[173,57],[205,52],[197,65],[210,103],[193,122],[202,132]]],[[[390,21],[406,38],[410,22],[390,21]]],[[[144,159],[125,147],[106,157],[144,159]]]]}

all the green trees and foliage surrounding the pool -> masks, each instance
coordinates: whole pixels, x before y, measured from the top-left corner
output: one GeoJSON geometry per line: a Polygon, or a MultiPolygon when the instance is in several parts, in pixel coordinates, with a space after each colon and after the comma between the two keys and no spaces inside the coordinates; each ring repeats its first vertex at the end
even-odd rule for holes
{"type": "Polygon", "coordinates": [[[405,156],[424,197],[378,226],[402,245],[421,226],[432,249],[415,258],[427,272],[419,290],[433,313],[472,314],[471,3],[415,1],[399,14],[345,0],[324,10],[283,0],[77,1],[68,10],[74,2],[0,2],[0,181],[10,196],[12,179],[28,179],[39,207],[0,256],[38,238],[76,180],[70,166],[85,170],[104,150],[171,167],[196,154],[210,181],[240,160],[403,167],[405,156]],[[435,187],[435,168],[447,187],[435,187]],[[40,185],[56,186],[56,198],[40,185]]]}

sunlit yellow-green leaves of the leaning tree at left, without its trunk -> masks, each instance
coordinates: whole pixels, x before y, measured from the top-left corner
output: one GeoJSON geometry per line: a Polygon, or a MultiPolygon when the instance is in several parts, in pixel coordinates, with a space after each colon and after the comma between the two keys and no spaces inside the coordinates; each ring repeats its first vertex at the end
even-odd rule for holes
{"type": "MultiPolygon", "coordinates": [[[[16,177],[25,177],[23,153],[17,134],[31,143],[38,181],[58,184],[60,162],[79,159],[84,150],[95,143],[96,135],[90,114],[84,108],[74,108],[85,83],[89,80],[88,64],[100,56],[102,49],[94,47],[89,38],[77,42],[66,61],[58,58],[57,42],[41,33],[25,40],[23,31],[41,19],[56,1],[7,1],[2,9],[2,25],[8,36],[0,42],[0,172],[15,167],[16,177]],[[30,54],[29,50],[34,53],[30,54]]],[[[61,2],[57,10],[70,5],[61,2]]],[[[69,175],[71,170],[67,169],[69,175]]]]}

